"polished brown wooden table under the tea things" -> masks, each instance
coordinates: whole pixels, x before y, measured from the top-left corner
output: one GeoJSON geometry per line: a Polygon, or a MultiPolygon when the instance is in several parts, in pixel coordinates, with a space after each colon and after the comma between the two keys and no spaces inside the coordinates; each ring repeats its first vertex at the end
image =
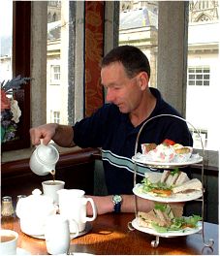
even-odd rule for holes
{"type": "MultiPolygon", "coordinates": [[[[218,225],[204,223],[204,239],[214,240],[213,251],[204,248],[201,233],[179,238],[160,238],[158,247],[151,247],[154,236],[138,230],[130,231],[128,222],[134,219],[132,213],[104,214],[92,222],[91,230],[78,239],[71,240],[71,252],[90,254],[131,254],[131,255],[218,255],[218,225]]],[[[46,255],[45,240],[31,238],[20,231],[19,220],[2,219],[2,229],[12,229],[19,233],[18,247],[31,254],[46,255]]]]}

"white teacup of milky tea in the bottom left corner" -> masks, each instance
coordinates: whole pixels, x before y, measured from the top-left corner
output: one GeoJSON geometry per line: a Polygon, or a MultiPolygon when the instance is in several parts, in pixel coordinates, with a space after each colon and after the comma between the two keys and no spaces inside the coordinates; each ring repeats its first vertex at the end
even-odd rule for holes
{"type": "Polygon", "coordinates": [[[18,234],[13,230],[0,230],[0,255],[16,255],[18,234]]]}

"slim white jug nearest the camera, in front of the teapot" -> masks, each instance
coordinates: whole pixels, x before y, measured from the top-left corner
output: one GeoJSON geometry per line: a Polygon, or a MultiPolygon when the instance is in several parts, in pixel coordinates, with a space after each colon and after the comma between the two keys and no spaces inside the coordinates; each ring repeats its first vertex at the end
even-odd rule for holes
{"type": "Polygon", "coordinates": [[[75,230],[77,232],[71,238],[68,219],[60,214],[49,216],[45,229],[47,252],[49,254],[67,254],[70,248],[70,240],[79,236],[77,222],[75,222],[75,230]]]}

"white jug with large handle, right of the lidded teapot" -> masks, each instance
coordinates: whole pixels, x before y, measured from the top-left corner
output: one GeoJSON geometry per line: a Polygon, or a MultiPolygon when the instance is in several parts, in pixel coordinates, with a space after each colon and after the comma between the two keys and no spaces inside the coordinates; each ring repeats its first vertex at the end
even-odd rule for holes
{"type": "Polygon", "coordinates": [[[69,219],[70,232],[76,232],[75,221],[78,222],[79,232],[84,231],[87,221],[93,221],[97,217],[97,209],[92,198],[86,198],[85,192],[80,189],[61,189],[59,195],[59,212],[65,218],[69,219]],[[86,205],[91,204],[93,215],[86,216],[86,205]]]}

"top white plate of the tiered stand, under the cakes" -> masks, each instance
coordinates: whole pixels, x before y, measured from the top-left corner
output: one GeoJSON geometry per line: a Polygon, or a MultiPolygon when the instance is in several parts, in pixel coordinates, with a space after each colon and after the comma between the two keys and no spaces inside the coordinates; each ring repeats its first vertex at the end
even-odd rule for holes
{"type": "Polygon", "coordinates": [[[155,162],[155,161],[150,161],[144,158],[144,155],[141,153],[136,154],[135,156],[132,157],[132,160],[134,160],[137,163],[147,165],[148,167],[153,167],[153,168],[172,168],[172,167],[184,167],[184,166],[189,166],[193,164],[198,164],[203,161],[203,157],[198,155],[196,157],[191,157],[187,162],[155,162]]]}

